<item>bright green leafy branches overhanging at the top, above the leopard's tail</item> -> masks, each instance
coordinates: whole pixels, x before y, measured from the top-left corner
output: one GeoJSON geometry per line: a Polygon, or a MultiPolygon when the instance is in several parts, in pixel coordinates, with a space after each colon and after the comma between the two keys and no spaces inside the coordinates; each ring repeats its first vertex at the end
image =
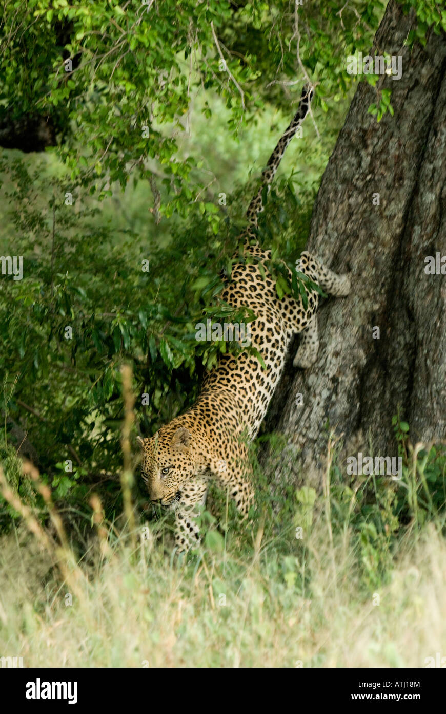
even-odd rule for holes
{"type": "MultiPolygon", "coordinates": [[[[13,1],[1,16],[0,107],[12,121],[29,112],[51,117],[71,181],[91,191],[106,192],[115,181],[124,188],[133,171],[147,178],[147,161],[155,161],[167,193],[160,210],[184,218],[204,188],[193,176],[194,158],[177,156],[176,135],[195,93],[206,93],[207,118],[209,96],[222,96],[235,134],[266,101],[288,112],[308,76],[316,106],[333,109],[354,81],[345,58],[370,44],[383,7],[380,0],[354,8],[288,0],[13,1]]],[[[212,209],[207,218],[212,223],[212,209]]]]}

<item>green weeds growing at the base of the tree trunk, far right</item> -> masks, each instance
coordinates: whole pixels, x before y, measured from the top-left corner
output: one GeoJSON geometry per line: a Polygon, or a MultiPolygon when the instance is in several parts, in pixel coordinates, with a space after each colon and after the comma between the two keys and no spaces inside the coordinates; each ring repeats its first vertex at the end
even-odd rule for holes
{"type": "Polygon", "coordinates": [[[343,470],[333,464],[333,528],[352,528],[356,534],[361,572],[370,588],[388,583],[394,553],[408,533],[418,538],[422,526],[431,521],[439,532],[446,525],[445,445],[414,447],[408,424],[395,418],[395,427],[401,478],[352,476],[346,483],[343,470]]]}

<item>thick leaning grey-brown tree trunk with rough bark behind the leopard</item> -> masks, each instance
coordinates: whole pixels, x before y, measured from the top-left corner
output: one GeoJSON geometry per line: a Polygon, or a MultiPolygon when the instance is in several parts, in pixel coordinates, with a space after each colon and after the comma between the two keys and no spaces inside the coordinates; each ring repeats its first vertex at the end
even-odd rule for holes
{"type": "Polygon", "coordinates": [[[271,403],[266,428],[290,447],[277,481],[320,486],[328,431],[343,434],[341,464],[396,456],[398,412],[413,443],[446,436],[446,276],[425,273],[427,256],[446,256],[446,36],[411,51],[414,24],[390,0],[370,55],[403,57],[401,79],[379,82],[395,115],[368,114],[375,90],[361,82],[323,174],[306,249],[351,272],[352,291],[326,301],[318,360],[297,373],[290,361],[271,403]]]}

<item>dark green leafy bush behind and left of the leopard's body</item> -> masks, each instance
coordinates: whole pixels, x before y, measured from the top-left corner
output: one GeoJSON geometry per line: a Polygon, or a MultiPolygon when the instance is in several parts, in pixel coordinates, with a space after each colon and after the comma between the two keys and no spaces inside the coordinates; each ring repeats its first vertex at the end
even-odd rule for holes
{"type": "MultiPolygon", "coordinates": [[[[58,464],[72,462],[73,471],[57,481],[57,496],[73,489],[82,500],[81,483],[105,476],[118,497],[120,365],[133,367],[141,433],[152,433],[192,403],[204,368],[217,353],[238,348],[197,343],[197,323],[253,317],[215,303],[219,268],[230,274],[227,256],[239,228],[227,219],[224,232],[205,238],[207,221],[198,205],[195,221],[179,227],[166,250],[157,236],[142,239],[99,220],[93,198],[74,193],[73,206],[66,205],[65,178],[54,176],[51,164],[31,171],[14,159],[0,169],[7,177],[4,198],[14,206],[5,218],[21,236],[4,252],[23,255],[27,266],[21,281],[4,278],[0,296],[5,411],[26,425],[53,486],[51,478],[61,478],[58,464]]],[[[266,239],[271,231],[281,234],[276,255],[279,245],[281,255],[295,251],[296,238],[286,227],[287,211],[299,207],[291,185],[279,181],[270,197],[279,221],[273,210],[261,226],[266,239]]]]}

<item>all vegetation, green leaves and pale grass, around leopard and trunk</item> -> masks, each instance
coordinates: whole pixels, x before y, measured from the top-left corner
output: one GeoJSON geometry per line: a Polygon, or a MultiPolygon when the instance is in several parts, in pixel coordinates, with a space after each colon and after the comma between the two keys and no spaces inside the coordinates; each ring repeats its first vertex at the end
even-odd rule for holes
{"type": "MultiPolygon", "coordinates": [[[[409,42],[445,29],[433,0],[405,6],[409,42]]],[[[0,144],[24,117],[44,117],[53,137],[41,154],[6,140],[0,153],[0,253],[24,256],[23,279],[0,276],[0,654],[26,666],[423,666],[440,649],[445,450],[413,446],[398,416],[401,481],[348,480],[331,440],[323,496],[302,487],[274,503],[283,444],[263,434],[254,530],[216,491],[204,544],[180,560],[134,478],[137,448],[122,466],[123,365],[134,444],[184,411],[230,348],[197,346],[195,324],[228,315],[220,271],[309,76],[313,119],[259,226],[276,258],[299,256],[358,79],[346,56],[368,51],[384,7],[0,9],[0,144]]],[[[391,97],[363,79],[378,120],[391,97]]]]}

